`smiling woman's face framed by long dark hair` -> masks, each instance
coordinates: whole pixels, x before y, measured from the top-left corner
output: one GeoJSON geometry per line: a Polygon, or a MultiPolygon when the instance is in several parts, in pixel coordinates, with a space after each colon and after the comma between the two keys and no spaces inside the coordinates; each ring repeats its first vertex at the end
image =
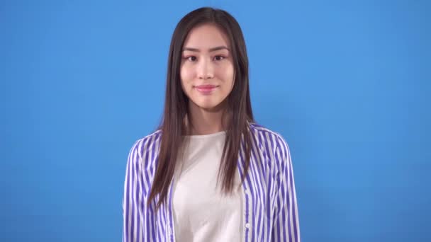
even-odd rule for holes
{"type": "Polygon", "coordinates": [[[181,56],[181,87],[189,108],[220,110],[232,91],[235,71],[228,37],[216,25],[192,28],[181,56]]]}

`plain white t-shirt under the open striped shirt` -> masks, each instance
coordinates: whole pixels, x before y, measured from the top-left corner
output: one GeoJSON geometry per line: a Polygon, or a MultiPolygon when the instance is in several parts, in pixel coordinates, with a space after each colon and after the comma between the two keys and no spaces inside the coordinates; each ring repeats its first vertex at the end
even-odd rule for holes
{"type": "Polygon", "coordinates": [[[232,195],[221,192],[221,179],[217,183],[225,137],[224,131],[186,137],[174,175],[176,241],[242,241],[240,175],[235,172],[232,195]]]}

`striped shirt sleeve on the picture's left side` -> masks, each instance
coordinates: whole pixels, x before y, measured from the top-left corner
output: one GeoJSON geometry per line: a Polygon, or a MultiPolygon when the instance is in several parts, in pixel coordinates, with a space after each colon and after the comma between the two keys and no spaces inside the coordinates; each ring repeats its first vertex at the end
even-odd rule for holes
{"type": "MultiPolygon", "coordinates": [[[[140,141],[130,149],[125,169],[123,194],[123,242],[142,239],[143,209],[142,201],[142,164],[140,141]]],[[[142,240],[141,240],[142,241],[142,240]]]]}

